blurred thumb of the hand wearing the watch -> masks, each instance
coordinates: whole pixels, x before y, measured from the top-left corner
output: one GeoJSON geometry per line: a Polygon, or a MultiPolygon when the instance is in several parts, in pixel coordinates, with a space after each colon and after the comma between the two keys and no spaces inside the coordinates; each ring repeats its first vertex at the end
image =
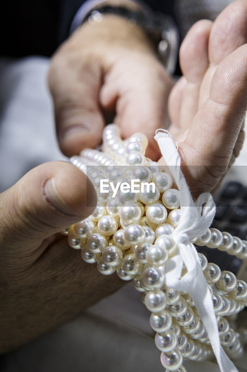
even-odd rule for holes
{"type": "Polygon", "coordinates": [[[57,137],[67,156],[100,144],[104,126],[98,102],[100,68],[96,62],[84,61],[80,54],[73,55],[66,50],[55,55],[49,71],[57,137]]]}

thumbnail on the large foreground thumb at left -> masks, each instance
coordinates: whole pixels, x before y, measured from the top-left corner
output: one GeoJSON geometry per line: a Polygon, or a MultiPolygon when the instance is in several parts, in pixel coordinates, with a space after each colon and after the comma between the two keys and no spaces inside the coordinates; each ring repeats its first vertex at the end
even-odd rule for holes
{"type": "Polygon", "coordinates": [[[76,215],[75,211],[67,205],[67,203],[57,192],[54,178],[50,178],[46,181],[43,188],[43,195],[50,206],[56,209],[58,212],[62,212],[63,214],[70,216],[76,215]]]}

